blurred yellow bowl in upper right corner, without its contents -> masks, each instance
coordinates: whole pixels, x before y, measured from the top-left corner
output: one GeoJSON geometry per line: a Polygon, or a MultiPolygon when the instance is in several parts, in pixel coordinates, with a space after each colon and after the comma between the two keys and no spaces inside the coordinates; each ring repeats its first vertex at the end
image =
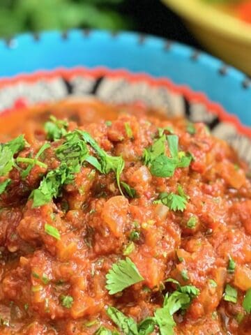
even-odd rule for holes
{"type": "Polygon", "coordinates": [[[251,24],[204,0],[162,0],[210,52],[251,75],[251,24]]]}

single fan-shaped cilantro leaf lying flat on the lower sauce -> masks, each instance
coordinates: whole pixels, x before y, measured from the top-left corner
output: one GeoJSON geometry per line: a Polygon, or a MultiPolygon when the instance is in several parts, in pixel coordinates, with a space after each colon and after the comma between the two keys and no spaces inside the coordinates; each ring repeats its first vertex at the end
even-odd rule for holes
{"type": "Polygon", "coordinates": [[[139,283],[139,281],[144,281],[136,265],[128,257],[126,260],[119,260],[119,262],[114,263],[106,278],[107,285],[105,288],[109,290],[109,295],[114,295],[133,284],[139,283]]]}

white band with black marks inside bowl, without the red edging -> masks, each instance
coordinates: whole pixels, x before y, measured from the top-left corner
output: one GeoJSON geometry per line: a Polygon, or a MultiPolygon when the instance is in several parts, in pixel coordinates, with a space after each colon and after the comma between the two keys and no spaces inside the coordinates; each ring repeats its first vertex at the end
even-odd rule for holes
{"type": "MultiPolygon", "coordinates": [[[[29,77],[29,76],[28,76],[29,77]]],[[[227,140],[251,168],[251,138],[239,132],[234,122],[220,119],[215,111],[197,101],[191,101],[180,91],[167,85],[152,85],[148,80],[130,81],[123,75],[72,76],[54,75],[48,80],[18,80],[0,87],[0,113],[10,110],[22,98],[27,104],[54,102],[67,97],[93,97],[109,103],[132,103],[142,101],[151,107],[160,108],[167,115],[184,116],[192,122],[204,122],[216,137],[227,140]],[[67,79],[66,79],[67,77],[67,79]]],[[[175,86],[175,85],[174,85],[175,86]]],[[[0,120],[1,121],[1,120],[0,120]]]]}

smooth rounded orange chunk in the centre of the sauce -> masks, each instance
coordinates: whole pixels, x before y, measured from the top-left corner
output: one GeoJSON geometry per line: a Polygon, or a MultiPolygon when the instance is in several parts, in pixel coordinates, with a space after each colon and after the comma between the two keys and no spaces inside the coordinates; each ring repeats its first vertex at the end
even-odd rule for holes
{"type": "Polygon", "coordinates": [[[126,226],[129,202],[123,195],[117,195],[105,202],[102,209],[102,220],[115,237],[123,236],[126,226]]]}

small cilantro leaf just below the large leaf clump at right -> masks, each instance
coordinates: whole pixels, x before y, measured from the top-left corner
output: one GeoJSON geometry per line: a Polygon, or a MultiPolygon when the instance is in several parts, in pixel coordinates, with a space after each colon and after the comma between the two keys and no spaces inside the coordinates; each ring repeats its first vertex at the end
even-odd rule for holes
{"type": "Polygon", "coordinates": [[[172,211],[184,211],[187,204],[187,196],[185,195],[183,188],[178,186],[178,194],[162,192],[159,195],[158,200],[155,200],[153,204],[165,204],[165,206],[172,209],[172,211]]]}

